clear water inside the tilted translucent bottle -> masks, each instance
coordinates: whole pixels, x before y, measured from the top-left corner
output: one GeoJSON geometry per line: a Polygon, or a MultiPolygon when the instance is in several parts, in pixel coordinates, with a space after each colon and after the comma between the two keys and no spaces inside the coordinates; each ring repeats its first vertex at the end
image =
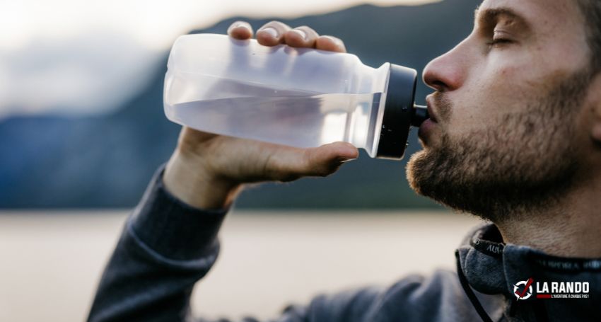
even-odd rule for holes
{"type": "Polygon", "coordinates": [[[173,105],[175,122],[204,132],[301,148],[344,141],[371,149],[383,93],[253,96],[173,105]]]}

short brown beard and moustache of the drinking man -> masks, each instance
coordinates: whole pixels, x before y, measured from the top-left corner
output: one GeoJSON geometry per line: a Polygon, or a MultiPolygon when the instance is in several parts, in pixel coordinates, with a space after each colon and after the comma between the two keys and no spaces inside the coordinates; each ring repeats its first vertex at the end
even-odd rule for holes
{"type": "MultiPolygon", "coordinates": [[[[575,119],[590,79],[588,71],[577,72],[533,97],[535,103],[526,103],[523,112],[502,115],[495,125],[462,137],[442,127],[440,146],[409,160],[409,185],[419,195],[494,223],[553,207],[575,183],[575,119]]],[[[449,120],[453,107],[445,93],[435,93],[433,100],[440,120],[449,120]]]]}

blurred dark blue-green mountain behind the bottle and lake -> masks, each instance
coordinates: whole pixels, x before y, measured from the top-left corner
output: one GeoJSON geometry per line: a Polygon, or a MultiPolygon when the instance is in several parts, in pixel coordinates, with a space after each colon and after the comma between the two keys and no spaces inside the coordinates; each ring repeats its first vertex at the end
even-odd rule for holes
{"type": "MultiPolygon", "coordinates": [[[[447,0],[423,6],[356,6],[292,20],[342,38],[363,63],[393,62],[418,69],[452,48],[472,28],[480,1],[447,0]]],[[[225,33],[235,20],[259,28],[274,18],[235,17],[192,33],[225,33]]],[[[132,207],[158,165],[175,148],[179,127],[163,115],[168,52],[151,85],[115,113],[98,117],[13,117],[0,122],[0,207],[132,207]]],[[[124,85],[125,86],[125,85],[124,85]]],[[[418,103],[429,93],[420,84],[418,103]]],[[[412,135],[407,156],[419,149],[412,135]]],[[[328,178],[264,184],[243,193],[238,207],[437,207],[407,186],[406,161],[362,153],[328,178]]]]}

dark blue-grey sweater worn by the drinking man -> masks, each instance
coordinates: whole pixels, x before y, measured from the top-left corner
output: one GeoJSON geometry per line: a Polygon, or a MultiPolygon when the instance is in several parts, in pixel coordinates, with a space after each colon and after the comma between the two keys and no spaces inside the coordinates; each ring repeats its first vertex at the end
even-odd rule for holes
{"type": "MultiPolygon", "coordinates": [[[[185,205],[165,190],[162,173],[127,219],[88,321],[207,321],[190,316],[190,294],[215,263],[227,209],[185,205]]],[[[457,272],[320,295],[270,321],[601,321],[601,259],[504,244],[493,224],[470,232],[455,255],[457,272]]]]}

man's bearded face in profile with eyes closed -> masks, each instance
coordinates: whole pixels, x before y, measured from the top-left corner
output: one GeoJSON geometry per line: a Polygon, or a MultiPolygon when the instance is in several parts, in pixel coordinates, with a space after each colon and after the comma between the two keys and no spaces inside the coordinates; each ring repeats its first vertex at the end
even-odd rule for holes
{"type": "Polygon", "coordinates": [[[472,33],[424,71],[436,92],[412,188],[494,222],[550,205],[582,166],[589,62],[576,1],[484,1],[472,33]]]}

